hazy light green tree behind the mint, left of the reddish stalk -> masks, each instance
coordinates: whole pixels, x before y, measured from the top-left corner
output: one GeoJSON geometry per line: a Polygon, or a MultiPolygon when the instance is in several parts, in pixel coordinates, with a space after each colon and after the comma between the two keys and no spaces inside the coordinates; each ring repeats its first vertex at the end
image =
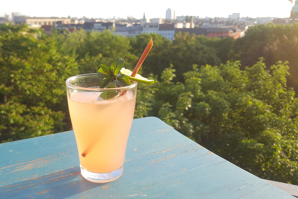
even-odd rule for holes
{"type": "Polygon", "coordinates": [[[76,30],[63,34],[55,31],[52,36],[57,41],[58,52],[76,57],[81,74],[94,73],[100,64],[109,64],[118,58],[125,59],[125,68],[133,69],[137,57],[131,53],[127,37],[114,36],[109,30],[102,33],[76,30]]]}

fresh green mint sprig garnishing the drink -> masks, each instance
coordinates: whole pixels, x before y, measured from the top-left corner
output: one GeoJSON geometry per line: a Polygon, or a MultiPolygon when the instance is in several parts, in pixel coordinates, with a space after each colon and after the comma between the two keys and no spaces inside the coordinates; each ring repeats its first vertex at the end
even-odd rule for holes
{"type": "MultiPolygon", "coordinates": [[[[105,64],[100,64],[100,69],[97,71],[97,76],[100,78],[100,88],[110,88],[107,87],[109,83],[114,82],[117,87],[125,87],[131,85],[127,75],[121,74],[120,70],[124,67],[124,59],[117,59],[112,64],[111,67],[105,64]]],[[[115,87],[114,87],[115,88],[115,87]]],[[[104,99],[108,100],[114,98],[118,95],[118,91],[105,91],[100,94],[97,100],[104,99]]]]}

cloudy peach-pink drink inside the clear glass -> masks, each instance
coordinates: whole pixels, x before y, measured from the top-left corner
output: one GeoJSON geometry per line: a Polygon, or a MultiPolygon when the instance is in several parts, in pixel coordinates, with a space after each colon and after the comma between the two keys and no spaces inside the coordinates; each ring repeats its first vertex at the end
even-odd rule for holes
{"type": "Polygon", "coordinates": [[[74,92],[68,106],[81,166],[91,172],[106,173],[124,163],[136,96],[127,93],[111,101],[97,101],[98,96],[93,92],[74,92]]]}

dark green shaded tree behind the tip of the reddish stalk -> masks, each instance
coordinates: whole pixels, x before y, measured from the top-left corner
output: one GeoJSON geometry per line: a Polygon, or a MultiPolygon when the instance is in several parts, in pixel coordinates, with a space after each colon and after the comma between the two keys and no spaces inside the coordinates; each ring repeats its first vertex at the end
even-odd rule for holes
{"type": "Polygon", "coordinates": [[[220,59],[214,47],[202,44],[197,36],[188,33],[176,33],[175,40],[170,42],[157,34],[141,34],[131,39],[132,52],[140,56],[150,38],[153,38],[153,48],[142,65],[144,75],[161,75],[170,64],[177,71],[175,81],[184,81],[183,72],[191,70],[193,64],[216,65],[220,59]]]}

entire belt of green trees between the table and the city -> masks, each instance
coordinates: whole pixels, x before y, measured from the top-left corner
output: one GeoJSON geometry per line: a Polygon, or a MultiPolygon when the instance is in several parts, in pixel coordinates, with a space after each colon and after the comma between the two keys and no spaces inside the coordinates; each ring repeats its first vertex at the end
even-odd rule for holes
{"type": "Polygon", "coordinates": [[[66,78],[117,58],[133,69],[153,38],[140,72],[156,83],[138,85],[135,118],[159,117],[254,175],[298,185],[297,27],[258,25],[235,41],[177,33],[171,42],[1,25],[0,142],[71,129],[66,78]]]}

